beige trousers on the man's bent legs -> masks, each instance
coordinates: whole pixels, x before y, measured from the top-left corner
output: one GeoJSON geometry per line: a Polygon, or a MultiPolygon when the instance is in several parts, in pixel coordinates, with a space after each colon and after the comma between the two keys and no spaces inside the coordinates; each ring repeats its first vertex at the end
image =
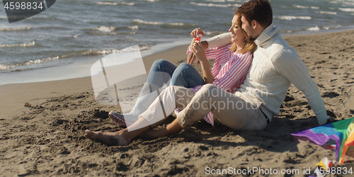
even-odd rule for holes
{"type": "Polygon", "coordinates": [[[261,112],[261,104],[240,92],[228,93],[213,84],[202,86],[197,93],[184,87],[170,86],[139,117],[154,127],[179,108],[178,123],[181,127],[188,127],[212,111],[214,118],[234,130],[263,130],[267,120],[261,112]]]}

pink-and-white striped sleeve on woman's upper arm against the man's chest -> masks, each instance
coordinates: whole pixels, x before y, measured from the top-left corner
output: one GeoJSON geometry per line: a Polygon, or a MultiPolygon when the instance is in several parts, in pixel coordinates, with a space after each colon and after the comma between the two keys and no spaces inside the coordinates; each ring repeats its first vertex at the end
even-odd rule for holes
{"type": "Polygon", "coordinates": [[[219,79],[215,78],[215,81],[212,83],[228,92],[232,92],[232,89],[238,82],[241,84],[240,81],[249,72],[249,67],[252,62],[252,55],[249,52],[243,55],[234,55],[233,57],[236,58],[233,59],[232,62],[227,62],[227,64],[222,67],[219,72],[219,79]]]}

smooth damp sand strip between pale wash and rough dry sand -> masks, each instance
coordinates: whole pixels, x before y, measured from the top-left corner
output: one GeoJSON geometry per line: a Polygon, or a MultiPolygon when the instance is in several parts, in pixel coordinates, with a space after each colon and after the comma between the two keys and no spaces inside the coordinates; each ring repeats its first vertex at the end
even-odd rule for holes
{"type": "MultiPolygon", "coordinates": [[[[147,73],[156,59],[166,59],[165,57],[169,56],[168,60],[174,64],[177,64],[177,62],[183,59],[183,57],[181,58],[181,51],[185,51],[187,47],[188,45],[178,45],[176,47],[170,47],[162,52],[156,52],[152,55],[142,57],[147,73]]],[[[186,59],[186,56],[184,59],[186,59]]],[[[48,96],[52,97],[62,96],[63,94],[80,93],[86,91],[87,89],[93,91],[91,76],[55,81],[38,81],[0,85],[0,119],[12,118],[15,115],[25,113],[21,111],[25,103],[37,105],[40,101],[44,101],[48,96]],[[72,88],[66,88],[66,86],[72,86],[72,88]]]]}

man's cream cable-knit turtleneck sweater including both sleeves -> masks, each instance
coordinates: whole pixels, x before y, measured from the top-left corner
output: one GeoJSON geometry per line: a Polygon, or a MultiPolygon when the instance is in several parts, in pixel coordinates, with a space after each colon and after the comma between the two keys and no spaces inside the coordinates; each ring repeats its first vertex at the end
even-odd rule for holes
{"type": "MultiPolygon", "coordinates": [[[[209,47],[218,47],[231,41],[231,33],[210,38],[209,47]]],[[[246,96],[261,101],[261,110],[268,118],[279,115],[290,84],[304,93],[320,125],[328,116],[319,89],[294,48],[281,38],[278,26],[271,24],[254,41],[258,46],[253,53],[249,74],[240,90],[246,96]]]]}

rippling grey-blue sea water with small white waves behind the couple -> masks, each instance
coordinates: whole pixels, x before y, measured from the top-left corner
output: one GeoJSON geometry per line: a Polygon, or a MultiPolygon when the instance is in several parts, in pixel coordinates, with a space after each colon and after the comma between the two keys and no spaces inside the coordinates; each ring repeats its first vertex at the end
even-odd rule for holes
{"type": "MultiPolygon", "coordinates": [[[[243,0],[58,0],[42,13],[8,23],[0,8],[0,85],[89,76],[98,59],[139,45],[145,55],[227,32],[243,0]],[[172,43],[175,42],[175,43],[172,43]],[[171,45],[171,43],[173,45],[171,45]]],[[[272,0],[283,34],[354,27],[354,0],[272,0]]],[[[144,55],[144,54],[143,54],[144,55]]]]}

